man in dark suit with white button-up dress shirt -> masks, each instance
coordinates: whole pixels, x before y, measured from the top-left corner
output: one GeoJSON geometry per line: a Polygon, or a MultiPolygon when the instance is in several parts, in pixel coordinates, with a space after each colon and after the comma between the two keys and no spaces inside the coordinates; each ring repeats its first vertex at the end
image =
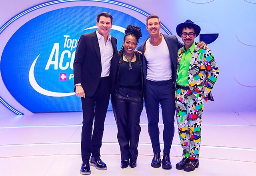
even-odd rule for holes
{"type": "Polygon", "coordinates": [[[83,110],[81,174],[90,174],[90,165],[99,170],[107,169],[100,159],[100,147],[118,64],[117,40],[109,34],[113,25],[111,14],[98,14],[96,25],[95,32],[80,37],[74,60],[75,92],[82,99],[83,110]]]}

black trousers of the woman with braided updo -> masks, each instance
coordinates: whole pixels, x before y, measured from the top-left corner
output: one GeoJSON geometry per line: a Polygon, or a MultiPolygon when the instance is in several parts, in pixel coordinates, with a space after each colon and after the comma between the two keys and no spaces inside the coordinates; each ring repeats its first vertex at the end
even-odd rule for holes
{"type": "Polygon", "coordinates": [[[121,160],[137,160],[140,114],[143,108],[142,91],[119,88],[117,96],[111,96],[111,102],[118,128],[121,160]]]}

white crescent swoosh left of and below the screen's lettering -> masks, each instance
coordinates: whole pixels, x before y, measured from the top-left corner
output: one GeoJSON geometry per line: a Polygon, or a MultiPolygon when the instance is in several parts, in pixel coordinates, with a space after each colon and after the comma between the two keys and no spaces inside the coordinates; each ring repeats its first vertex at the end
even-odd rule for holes
{"type": "Polygon", "coordinates": [[[36,59],[32,63],[32,65],[30,67],[30,70],[29,70],[29,73],[28,73],[28,80],[29,80],[30,85],[32,86],[32,88],[34,90],[36,90],[36,92],[38,92],[40,94],[43,94],[43,95],[46,95],[46,96],[63,97],[63,96],[75,95],[75,92],[62,93],[62,92],[52,92],[52,91],[49,91],[49,90],[45,90],[37,84],[35,76],[34,76],[34,68],[35,68],[36,61],[37,61],[39,56],[40,56],[40,54],[36,57],[36,59]]]}

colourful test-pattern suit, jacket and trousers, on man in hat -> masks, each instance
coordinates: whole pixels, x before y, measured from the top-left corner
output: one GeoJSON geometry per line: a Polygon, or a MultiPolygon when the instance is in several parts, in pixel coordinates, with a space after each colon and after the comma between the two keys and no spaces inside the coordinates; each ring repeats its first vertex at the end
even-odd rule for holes
{"type": "MultiPolygon", "coordinates": [[[[178,68],[182,58],[182,48],[178,50],[178,68]]],[[[190,90],[176,89],[175,106],[180,143],[183,157],[198,159],[201,143],[201,122],[204,101],[211,96],[211,90],[218,78],[218,67],[210,49],[195,46],[188,69],[190,90]],[[204,94],[205,98],[202,98],[204,94]]],[[[178,76],[178,75],[177,75],[178,76]]]]}

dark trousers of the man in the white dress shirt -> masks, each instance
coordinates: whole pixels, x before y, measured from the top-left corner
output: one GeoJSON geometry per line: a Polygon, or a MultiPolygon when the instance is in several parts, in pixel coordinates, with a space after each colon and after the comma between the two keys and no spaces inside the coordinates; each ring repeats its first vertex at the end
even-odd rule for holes
{"type": "Polygon", "coordinates": [[[82,97],[83,127],[81,152],[82,160],[89,160],[100,155],[102,136],[104,131],[104,121],[108,110],[110,98],[110,77],[100,78],[100,83],[96,93],[92,97],[82,97]],[[94,120],[94,129],[92,125],[94,120]]]}

